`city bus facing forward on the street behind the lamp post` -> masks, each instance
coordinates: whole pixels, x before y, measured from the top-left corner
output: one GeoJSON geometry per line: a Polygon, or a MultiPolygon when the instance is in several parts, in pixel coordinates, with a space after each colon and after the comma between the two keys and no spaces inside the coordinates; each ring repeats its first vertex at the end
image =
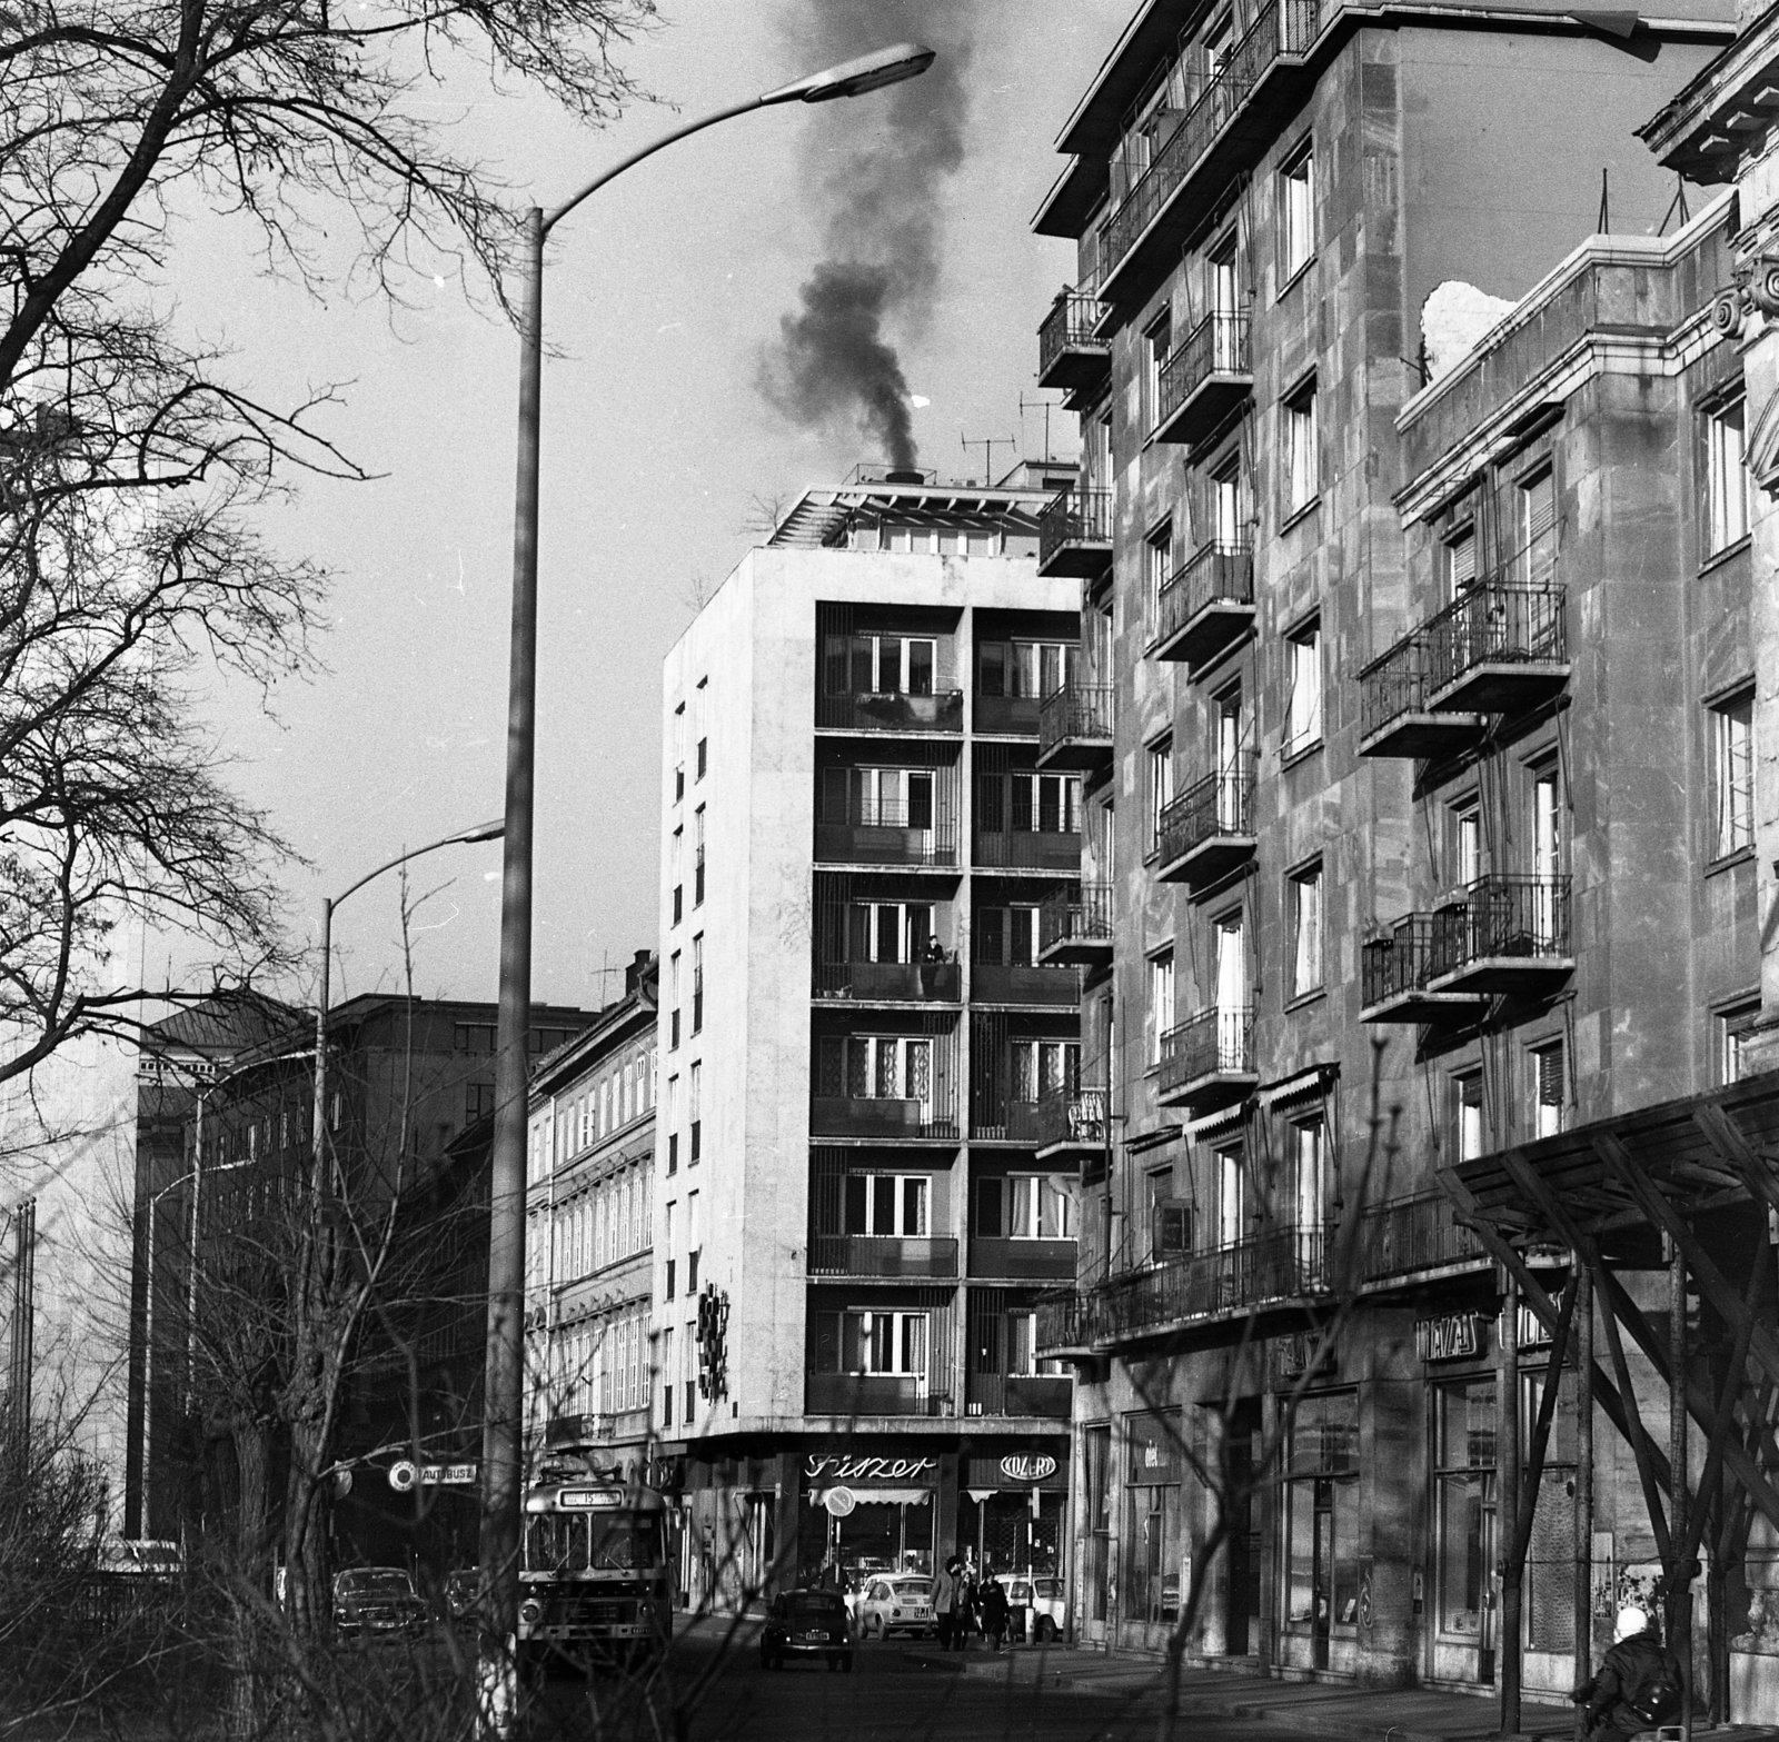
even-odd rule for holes
{"type": "Polygon", "coordinates": [[[525,1495],[519,1662],[544,1671],[644,1667],[672,1637],[665,1500],[619,1473],[525,1495]]]}

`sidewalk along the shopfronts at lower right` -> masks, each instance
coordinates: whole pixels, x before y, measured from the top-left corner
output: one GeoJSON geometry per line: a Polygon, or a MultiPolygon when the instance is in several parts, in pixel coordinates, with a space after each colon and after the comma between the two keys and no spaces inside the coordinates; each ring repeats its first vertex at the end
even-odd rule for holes
{"type": "MultiPolygon", "coordinates": [[[[1055,1687],[1112,1699],[1140,1699],[1160,1689],[1162,1664],[1149,1657],[1107,1657],[1067,1646],[1010,1648],[1000,1655],[973,1649],[962,1657],[939,1651],[907,1653],[934,1665],[959,1667],[968,1676],[996,1676],[1016,1687],[1055,1687]]],[[[1571,1742],[1574,1706],[1550,1705],[1550,1696],[1528,1698],[1519,1708],[1519,1737],[1571,1742]]],[[[1276,1682],[1226,1669],[1185,1667],[1179,1673],[1183,1715],[1252,1719],[1304,1737],[1341,1737],[1354,1742],[1471,1742],[1500,1737],[1500,1705],[1473,1694],[1437,1689],[1372,1689],[1331,1682],[1276,1682]]],[[[1747,1724],[1694,1730],[1694,1742],[1779,1742],[1779,1731],[1747,1724]]],[[[1654,1733],[1649,1733],[1654,1742],[1654,1733]]]]}

